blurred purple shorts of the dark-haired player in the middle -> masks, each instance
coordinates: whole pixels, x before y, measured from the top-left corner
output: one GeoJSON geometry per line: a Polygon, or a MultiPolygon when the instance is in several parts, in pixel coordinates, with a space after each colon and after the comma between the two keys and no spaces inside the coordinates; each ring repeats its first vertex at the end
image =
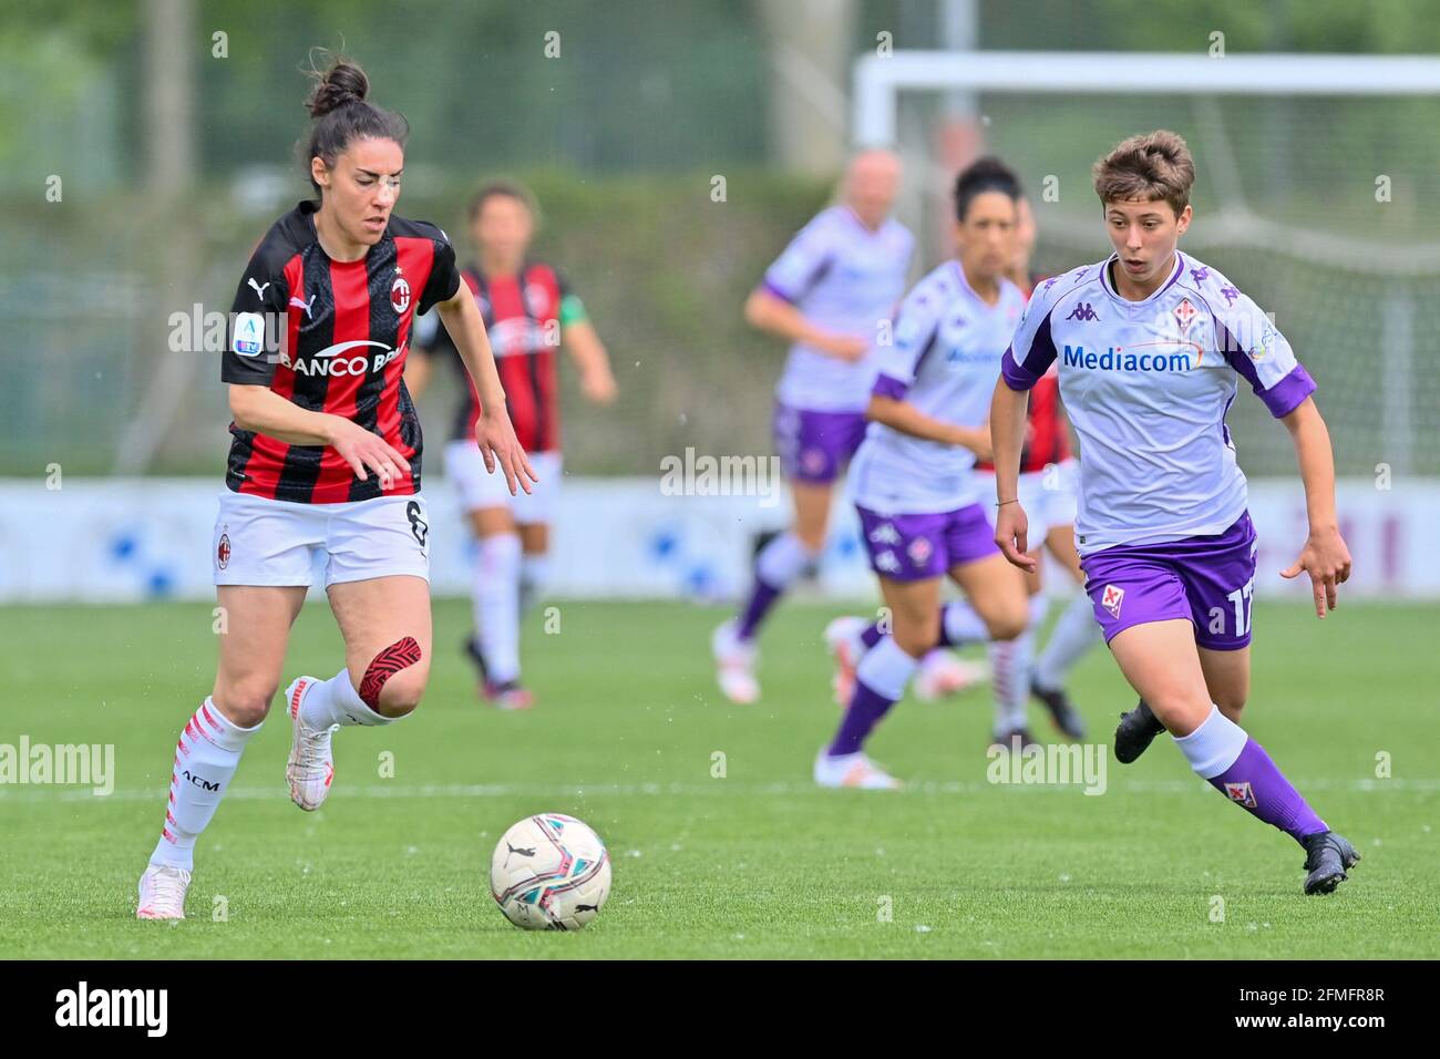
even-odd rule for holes
{"type": "Polygon", "coordinates": [[[999,555],[984,504],[940,514],[876,514],[855,504],[870,568],[891,581],[926,581],[952,566],[999,555]]]}

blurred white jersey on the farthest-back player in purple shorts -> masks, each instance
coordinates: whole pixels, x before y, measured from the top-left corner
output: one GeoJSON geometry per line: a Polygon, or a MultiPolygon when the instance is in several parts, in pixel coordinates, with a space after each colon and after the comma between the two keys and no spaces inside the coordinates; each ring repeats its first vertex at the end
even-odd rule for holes
{"type": "MultiPolygon", "coordinates": [[[[816,327],[874,341],[904,294],[914,236],[899,220],[865,228],[847,206],[831,206],[799,231],[765,272],[763,287],[816,327]]],[[[860,412],[876,379],[874,353],[857,363],[795,343],[775,396],[818,412],[860,412]]]]}

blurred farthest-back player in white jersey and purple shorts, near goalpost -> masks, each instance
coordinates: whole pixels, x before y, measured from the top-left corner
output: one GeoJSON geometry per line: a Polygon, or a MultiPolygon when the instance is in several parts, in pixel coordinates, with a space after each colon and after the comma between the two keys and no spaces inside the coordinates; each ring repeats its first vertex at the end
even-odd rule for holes
{"type": "Polygon", "coordinates": [[[789,339],[776,388],[775,448],[795,520],[755,563],[755,585],[711,638],[716,679],[732,702],[755,702],[755,638],[765,615],[825,546],[837,478],[865,437],[880,323],[904,292],[914,238],[894,218],[900,160],[864,151],[845,173],[842,202],[801,229],[744,305],[752,326],[789,339]]]}

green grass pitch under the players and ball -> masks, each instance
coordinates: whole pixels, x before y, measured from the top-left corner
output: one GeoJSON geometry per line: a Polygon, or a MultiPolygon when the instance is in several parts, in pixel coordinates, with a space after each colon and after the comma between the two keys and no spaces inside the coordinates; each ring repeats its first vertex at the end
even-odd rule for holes
{"type": "MultiPolygon", "coordinates": [[[[285,792],[276,709],[200,840],[190,919],[157,924],[132,918],[135,880],[176,735],[213,679],[210,608],[0,611],[0,742],[114,743],[117,771],[109,797],[0,787],[0,957],[1440,954],[1437,692],[1423,647],[1440,607],[1346,604],[1325,622],[1305,599],[1256,608],[1246,726],[1364,854],[1329,898],[1305,898],[1300,849],[1164,739],[1129,768],[1109,758],[1100,795],[986,782],[986,689],[890,715],[871,752],[907,790],[814,788],[811,761],[837,722],[819,643],[834,612],[778,608],[763,699],[739,707],[710,671],[719,609],[560,602],[557,634],[543,614],[526,628],[539,705],[507,715],[474,699],[456,650],[468,607],[438,602],[419,712],[338,732],[333,794],[307,816],[285,792]],[[611,849],[609,903],[580,934],[526,934],[490,898],[491,847],[536,811],[575,814],[611,849]]],[[[328,611],[307,607],[285,680],[330,676],[340,657],[328,611]]],[[[1107,743],[1133,696],[1103,648],[1073,692],[1107,743]]],[[[1038,706],[1032,720],[1050,735],[1038,706]]]]}

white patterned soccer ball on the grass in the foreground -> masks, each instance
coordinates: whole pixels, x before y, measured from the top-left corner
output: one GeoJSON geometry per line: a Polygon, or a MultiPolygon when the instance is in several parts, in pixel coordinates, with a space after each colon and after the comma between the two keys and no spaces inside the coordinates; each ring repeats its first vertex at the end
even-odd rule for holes
{"type": "Polygon", "coordinates": [[[575,817],[526,817],[495,844],[490,892],[516,926],[577,931],[611,893],[611,854],[600,836],[575,817]]]}

